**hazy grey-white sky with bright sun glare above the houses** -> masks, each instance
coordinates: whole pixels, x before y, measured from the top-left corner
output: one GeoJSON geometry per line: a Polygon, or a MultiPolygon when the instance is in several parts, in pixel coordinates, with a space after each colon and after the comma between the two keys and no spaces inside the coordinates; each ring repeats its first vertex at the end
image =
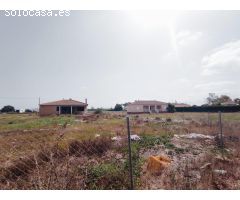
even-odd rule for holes
{"type": "Polygon", "coordinates": [[[0,107],[87,98],[206,103],[240,97],[240,11],[0,15],[0,107]]]}

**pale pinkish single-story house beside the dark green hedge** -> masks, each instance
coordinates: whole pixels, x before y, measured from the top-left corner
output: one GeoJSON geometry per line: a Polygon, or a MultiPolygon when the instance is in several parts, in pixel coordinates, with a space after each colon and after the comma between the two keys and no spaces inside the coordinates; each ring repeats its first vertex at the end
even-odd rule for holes
{"type": "Polygon", "coordinates": [[[127,113],[160,113],[167,112],[168,103],[161,101],[134,101],[127,105],[127,113]]]}

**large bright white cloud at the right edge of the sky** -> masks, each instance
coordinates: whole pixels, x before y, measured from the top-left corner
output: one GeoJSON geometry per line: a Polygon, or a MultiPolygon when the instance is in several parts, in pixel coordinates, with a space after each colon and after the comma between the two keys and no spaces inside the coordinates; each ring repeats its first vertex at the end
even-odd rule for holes
{"type": "Polygon", "coordinates": [[[202,75],[234,77],[240,73],[240,40],[214,49],[202,59],[202,75]]]}

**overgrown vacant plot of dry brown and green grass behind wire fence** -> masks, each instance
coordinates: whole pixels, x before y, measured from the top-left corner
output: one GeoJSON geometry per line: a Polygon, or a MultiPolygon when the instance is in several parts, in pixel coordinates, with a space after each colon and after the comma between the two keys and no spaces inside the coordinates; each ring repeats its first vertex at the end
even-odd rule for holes
{"type": "MultiPolygon", "coordinates": [[[[128,189],[125,113],[0,115],[2,189],[128,189]]],[[[131,115],[137,189],[239,189],[240,113],[131,115]],[[151,173],[150,156],[171,162],[151,173]]]]}

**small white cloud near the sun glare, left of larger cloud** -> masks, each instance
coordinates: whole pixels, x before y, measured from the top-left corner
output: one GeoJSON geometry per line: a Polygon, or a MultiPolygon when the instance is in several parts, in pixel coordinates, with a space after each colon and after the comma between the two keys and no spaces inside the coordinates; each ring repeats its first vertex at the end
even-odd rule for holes
{"type": "Polygon", "coordinates": [[[199,40],[202,37],[202,32],[192,32],[189,30],[180,31],[176,35],[177,44],[186,46],[190,43],[199,40]]]}

